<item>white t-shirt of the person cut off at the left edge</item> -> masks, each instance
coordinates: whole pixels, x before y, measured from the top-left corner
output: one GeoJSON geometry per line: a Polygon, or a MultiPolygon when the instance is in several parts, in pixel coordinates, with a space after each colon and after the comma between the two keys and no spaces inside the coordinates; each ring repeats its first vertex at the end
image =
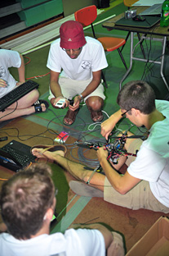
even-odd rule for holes
{"type": "Polygon", "coordinates": [[[16,51],[0,49],[0,79],[7,82],[7,87],[0,87],[0,98],[9,93],[16,86],[16,80],[8,71],[11,66],[19,68],[21,65],[20,54],[16,51]]]}

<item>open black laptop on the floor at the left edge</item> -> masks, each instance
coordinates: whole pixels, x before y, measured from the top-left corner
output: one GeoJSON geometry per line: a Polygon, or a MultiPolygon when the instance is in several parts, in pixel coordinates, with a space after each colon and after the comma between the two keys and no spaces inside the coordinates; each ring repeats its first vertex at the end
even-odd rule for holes
{"type": "Polygon", "coordinates": [[[30,149],[28,145],[11,140],[0,149],[0,165],[16,172],[29,166],[31,162],[35,162],[30,149]]]}

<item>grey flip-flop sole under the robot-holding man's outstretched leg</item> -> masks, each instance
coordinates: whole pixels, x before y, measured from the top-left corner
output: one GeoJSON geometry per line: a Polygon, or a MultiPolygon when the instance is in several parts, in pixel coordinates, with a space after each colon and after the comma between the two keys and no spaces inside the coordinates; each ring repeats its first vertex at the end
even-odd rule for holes
{"type": "Polygon", "coordinates": [[[75,194],[87,196],[87,197],[99,197],[104,198],[104,192],[98,190],[91,185],[82,183],[81,181],[70,181],[69,187],[75,194]]]}

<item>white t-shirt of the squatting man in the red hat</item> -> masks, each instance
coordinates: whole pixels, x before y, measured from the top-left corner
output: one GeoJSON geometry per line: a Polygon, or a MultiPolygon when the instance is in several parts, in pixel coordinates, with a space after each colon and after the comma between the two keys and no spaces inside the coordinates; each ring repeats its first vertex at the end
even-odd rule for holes
{"type": "Polygon", "coordinates": [[[87,43],[82,47],[82,52],[76,59],[71,59],[60,48],[60,39],[51,43],[47,67],[51,71],[59,72],[60,76],[69,77],[72,80],[88,80],[92,77],[92,71],[100,71],[108,66],[105,50],[102,44],[91,37],[85,37],[87,43]]]}

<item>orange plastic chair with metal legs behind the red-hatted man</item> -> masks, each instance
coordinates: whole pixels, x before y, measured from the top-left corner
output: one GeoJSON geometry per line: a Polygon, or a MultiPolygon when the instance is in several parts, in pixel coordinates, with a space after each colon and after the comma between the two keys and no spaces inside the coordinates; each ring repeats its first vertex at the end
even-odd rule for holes
{"type": "MultiPolygon", "coordinates": [[[[113,52],[114,50],[118,50],[118,53],[122,59],[122,62],[124,66],[127,69],[126,62],[124,58],[122,57],[121,50],[119,49],[122,45],[126,43],[125,39],[119,39],[119,38],[114,38],[114,37],[100,37],[96,38],[94,26],[93,26],[93,21],[96,20],[97,17],[97,8],[95,5],[91,5],[89,7],[84,7],[78,11],[74,12],[75,20],[80,22],[83,27],[86,27],[87,25],[91,25],[91,30],[93,33],[93,37],[102,43],[105,52],[113,52]]],[[[105,87],[107,88],[107,84],[105,81],[105,75],[103,74],[103,71],[101,73],[102,79],[105,82],[105,87]]]]}

